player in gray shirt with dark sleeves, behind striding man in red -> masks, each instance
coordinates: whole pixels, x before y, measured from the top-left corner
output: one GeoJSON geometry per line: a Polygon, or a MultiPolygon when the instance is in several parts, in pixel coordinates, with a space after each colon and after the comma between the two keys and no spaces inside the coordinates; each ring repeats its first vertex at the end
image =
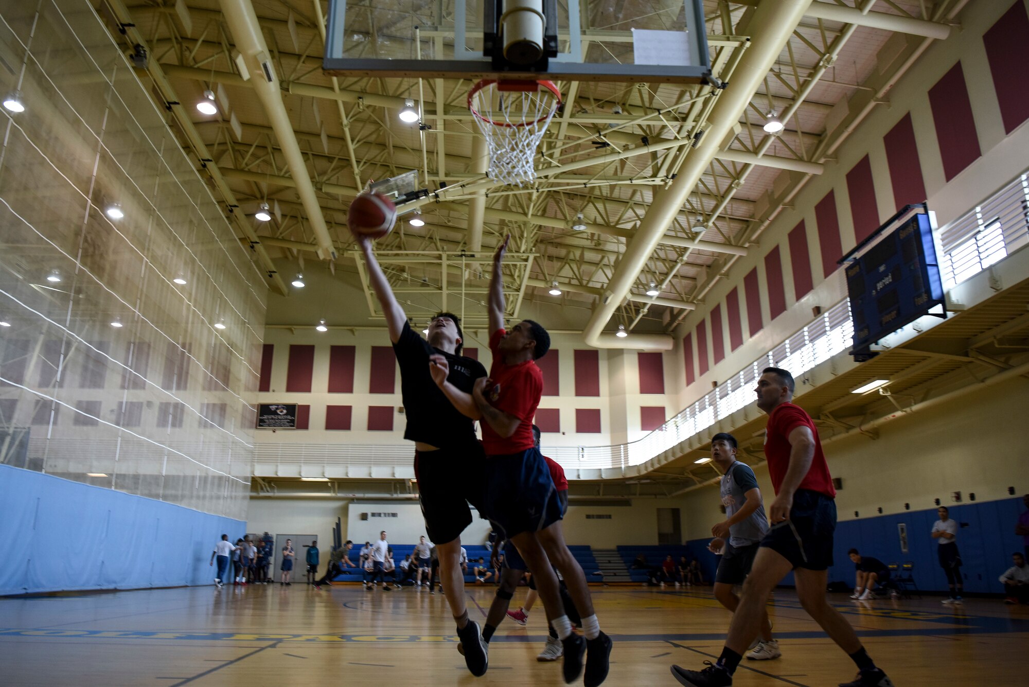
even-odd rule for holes
{"type": "MultiPolygon", "coordinates": [[[[711,528],[715,548],[723,546],[718,572],[714,578],[714,595],[730,611],[736,611],[740,598],[733,588],[750,574],[757,549],[769,531],[768,516],[761,503],[757,478],[748,465],[736,460],[736,437],[721,432],[711,439],[711,460],[723,471],[720,482],[721,504],[725,519],[711,528]]],[[[761,617],[761,631],[747,651],[751,660],[768,660],[782,655],[779,643],[772,639],[768,614],[761,617]]]]}

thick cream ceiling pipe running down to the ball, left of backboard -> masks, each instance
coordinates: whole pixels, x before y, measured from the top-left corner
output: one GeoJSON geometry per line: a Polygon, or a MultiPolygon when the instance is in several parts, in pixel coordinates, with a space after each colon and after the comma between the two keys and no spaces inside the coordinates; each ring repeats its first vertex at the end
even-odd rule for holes
{"type": "Polygon", "coordinates": [[[264,108],[264,114],[271,120],[279,145],[282,146],[282,154],[292,173],[296,191],[308,214],[308,222],[321,249],[318,255],[323,260],[334,260],[335,248],[332,247],[332,238],[328,233],[325,218],[318,205],[318,196],[311,183],[304,153],[300,152],[300,146],[293,136],[293,124],[282,102],[279,77],[275,72],[271,52],[264,43],[264,35],[261,33],[254,7],[249,0],[220,0],[220,4],[228,30],[236,39],[236,47],[246,60],[250,71],[250,83],[264,108]]]}

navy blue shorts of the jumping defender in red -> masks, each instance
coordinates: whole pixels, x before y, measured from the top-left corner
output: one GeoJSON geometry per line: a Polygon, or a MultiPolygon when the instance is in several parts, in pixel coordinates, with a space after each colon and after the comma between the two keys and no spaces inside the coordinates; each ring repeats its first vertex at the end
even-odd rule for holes
{"type": "Polygon", "coordinates": [[[538,448],[486,459],[486,515],[505,539],[539,532],[561,519],[561,502],[538,448]]]}

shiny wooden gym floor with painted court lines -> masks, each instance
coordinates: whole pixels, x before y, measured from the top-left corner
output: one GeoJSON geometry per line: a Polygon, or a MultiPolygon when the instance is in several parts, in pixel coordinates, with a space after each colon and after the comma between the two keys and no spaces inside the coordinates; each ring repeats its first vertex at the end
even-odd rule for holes
{"type": "MultiPolygon", "coordinates": [[[[493,587],[467,590],[482,621],[493,587]]],[[[524,599],[519,589],[513,608],[524,599]]],[[[672,663],[700,667],[720,651],[729,613],[710,587],[594,587],[614,640],[611,687],[678,685],[672,663]]],[[[938,596],[851,602],[833,594],[868,653],[898,687],[1026,684],[1029,607],[999,600],[942,606],[938,596]]],[[[855,668],[780,590],[770,607],[782,658],[744,661],[741,686],[836,685],[855,668]]],[[[542,608],[527,626],[505,620],[490,670],[473,678],[455,648],[438,592],[357,586],[189,587],[0,600],[2,685],[503,685],[564,684],[539,663],[542,608]]]]}

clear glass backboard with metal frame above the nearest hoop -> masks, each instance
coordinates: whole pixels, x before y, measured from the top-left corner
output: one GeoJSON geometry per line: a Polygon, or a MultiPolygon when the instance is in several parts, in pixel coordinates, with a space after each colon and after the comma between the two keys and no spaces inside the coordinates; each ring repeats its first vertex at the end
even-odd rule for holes
{"type": "MultiPolygon", "coordinates": [[[[638,16],[623,16],[613,24],[597,20],[598,25],[603,22],[597,28],[590,26],[584,11],[588,3],[555,3],[557,55],[545,61],[545,67],[504,64],[484,53],[485,22],[494,11],[494,2],[429,0],[414,9],[401,9],[381,0],[329,0],[324,71],[349,77],[654,83],[699,83],[710,76],[703,0],[672,4],[677,11],[654,12],[652,5],[640,4],[638,16]],[[639,31],[662,32],[659,38],[676,46],[680,60],[675,62],[688,58],[685,64],[637,64],[639,59],[672,62],[666,52],[635,49],[634,34],[639,31]]],[[[552,29],[546,32],[551,34],[552,29]]],[[[652,39],[654,34],[641,36],[652,39]]]]}

